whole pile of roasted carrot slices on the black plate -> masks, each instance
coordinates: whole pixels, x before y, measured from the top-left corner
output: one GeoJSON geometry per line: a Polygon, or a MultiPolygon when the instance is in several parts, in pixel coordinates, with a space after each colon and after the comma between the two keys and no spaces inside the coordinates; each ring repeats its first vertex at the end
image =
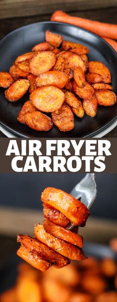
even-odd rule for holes
{"type": "Polygon", "coordinates": [[[95,118],[98,105],[115,105],[110,70],[103,62],[88,61],[89,51],[86,45],[46,30],[45,41],[20,54],[9,72],[1,71],[0,87],[6,89],[7,101],[19,101],[29,89],[17,123],[34,131],[56,126],[66,132],[74,128],[74,115],[95,118]],[[53,123],[45,113],[52,113],[53,123]]]}

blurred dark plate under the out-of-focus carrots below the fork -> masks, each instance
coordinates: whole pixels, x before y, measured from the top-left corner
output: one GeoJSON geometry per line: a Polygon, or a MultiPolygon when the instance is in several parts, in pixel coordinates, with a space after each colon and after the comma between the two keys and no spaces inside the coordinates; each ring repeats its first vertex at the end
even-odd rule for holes
{"type": "MultiPolygon", "coordinates": [[[[117,260],[117,255],[109,247],[101,244],[86,243],[83,251],[87,256],[93,256],[98,259],[109,257],[117,260]]],[[[16,283],[17,266],[23,262],[18,256],[14,257],[0,269],[0,293],[11,288],[16,283]]]]}

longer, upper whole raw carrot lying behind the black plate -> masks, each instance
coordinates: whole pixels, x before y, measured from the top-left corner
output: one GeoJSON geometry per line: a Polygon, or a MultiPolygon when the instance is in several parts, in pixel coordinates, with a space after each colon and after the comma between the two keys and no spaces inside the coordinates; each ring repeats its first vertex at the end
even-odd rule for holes
{"type": "Polygon", "coordinates": [[[51,21],[73,24],[88,29],[98,34],[99,36],[103,35],[104,37],[107,38],[117,39],[116,24],[103,23],[99,21],[93,21],[89,19],[70,16],[69,14],[61,10],[55,11],[55,13],[51,17],[51,21]]]}

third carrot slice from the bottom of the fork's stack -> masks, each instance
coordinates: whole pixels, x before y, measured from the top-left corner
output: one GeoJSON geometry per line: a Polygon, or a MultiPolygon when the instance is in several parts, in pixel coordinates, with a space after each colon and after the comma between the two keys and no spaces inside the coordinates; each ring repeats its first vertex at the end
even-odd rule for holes
{"type": "Polygon", "coordinates": [[[77,261],[86,259],[80,248],[51,235],[46,231],[44,225],[37,223],[34,228],[34,234],[39,241],[64,257],[77,261]]]}

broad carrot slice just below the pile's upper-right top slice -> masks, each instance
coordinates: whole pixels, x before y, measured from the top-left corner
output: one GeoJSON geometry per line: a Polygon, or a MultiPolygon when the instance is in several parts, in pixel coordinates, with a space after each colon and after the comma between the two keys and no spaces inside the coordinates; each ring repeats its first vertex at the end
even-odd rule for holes
{"type": "Polygon", "coordinates": [[[58,53],[58,55],[64,59],[64,68],[71,68],[74,70],[81,67],[84,72],[86,71],[86,64],[79,55],[69,51],[63,51],[58,53]]]}

